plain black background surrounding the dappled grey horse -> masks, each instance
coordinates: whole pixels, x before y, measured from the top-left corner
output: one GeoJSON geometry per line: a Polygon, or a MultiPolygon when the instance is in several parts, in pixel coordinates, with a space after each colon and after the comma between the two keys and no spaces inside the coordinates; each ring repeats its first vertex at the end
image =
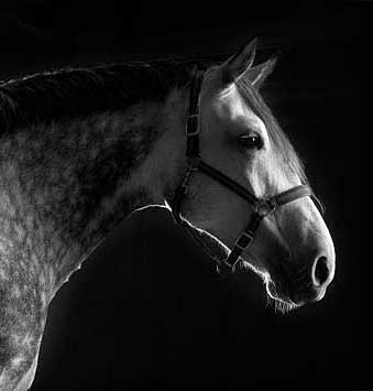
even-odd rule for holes
{"type": "Polygon", "coordinates": [[[372,203],[363,160],[372,8],[1,2],[1,78],[164,56],[220,59],[254,35],[259,59],[281,50],[263,94],[327,205],[337,251],[326,298],[281,315],[255,275],[219,280],[165,211],[140,213],[54,298],[32,390],[373,388],[372,260],[362,238],[372,203]]]}

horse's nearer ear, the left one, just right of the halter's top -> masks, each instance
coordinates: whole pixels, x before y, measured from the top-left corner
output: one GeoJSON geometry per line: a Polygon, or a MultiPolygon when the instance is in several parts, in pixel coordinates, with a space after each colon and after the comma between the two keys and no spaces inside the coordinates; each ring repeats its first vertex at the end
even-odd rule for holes
{"type": "Polygon", "coordinates": [[[222,64],[224,84],[233,83],[253,65],[256,41],[256,37],[254,37],[222,64]]]}

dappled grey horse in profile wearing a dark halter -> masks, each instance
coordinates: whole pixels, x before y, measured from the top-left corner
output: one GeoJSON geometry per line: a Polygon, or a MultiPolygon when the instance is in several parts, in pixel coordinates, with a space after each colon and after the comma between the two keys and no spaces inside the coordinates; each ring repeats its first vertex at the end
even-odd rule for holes
{"type": "Polygon", "coordinates": [[[323,297],[333,242],[260,94],[276,57],[254,65],[255,51],[0,85],[1,391],[30,389],[51,301],[136,210],[165,208],[220,272],[254,271],[287,309],[323,297]]]}

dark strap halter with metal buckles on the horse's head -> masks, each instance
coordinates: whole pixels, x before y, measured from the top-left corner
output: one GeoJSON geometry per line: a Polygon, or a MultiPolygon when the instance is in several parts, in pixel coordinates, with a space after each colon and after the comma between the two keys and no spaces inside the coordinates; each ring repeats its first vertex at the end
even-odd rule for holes
{"type": "MultiPolygon", "coordinates": [[[[307,185],[299,185],[292,187],[290,189],[279,193],[271,198],[257,198],[255,195],[250,193],[239,183],[232,181],[230,177],[221,173],[220,171],[213,169],[206,162],[201,160],[199,153],[199,115],[198,115],[198,99],[199,93],[202,84],[205,72],[195,68],[195,75],[191,80],[190,96],[189,96],[189,112],[186,123],[186,137],[187,137],[187,151],[186,155],[188,159],[188,167],[184,176],[183,182],[177,187],[174,199],[172,202],[172,211],[175,220],[180,224],[204,248],[208,256],[217,263],[217,270],[219,273],[231,273],[237,269],[237,263],[240,260],[242,252],[252,243],[255,232],[260,226],[262,219],[276,209],[278,206],[288,204],[295,199],[303,197],[315,197],[312,191],[307,185]],[[184,196],[188,192],[188,181],[191,173],[200,171],[204,174],[218,181],[223,186],[231,189],[233,193],[238,194],[240,197],[245,199],[253,207],[253,215],[249,225],[243,230],[243,232],[238,237],[235,243],[226,259],[218,259],[216,254],[207,247],[207,245],[201,240],[201,238],[196,233],[191,226],[180,217],[180,206],[184,196]]],[[[318,202],[318,199],[316,198],[318,202]]]]}

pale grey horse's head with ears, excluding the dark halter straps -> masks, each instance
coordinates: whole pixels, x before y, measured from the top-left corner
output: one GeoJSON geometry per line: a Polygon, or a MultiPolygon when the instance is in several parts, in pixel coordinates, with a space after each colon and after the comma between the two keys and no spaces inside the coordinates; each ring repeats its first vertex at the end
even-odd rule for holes
{"type": "MultiPolygon", "coordinates": [[[[274,199],[289,189],[310,187],[260,94],[276,58],[253,66],[255,46],[254,40],[205,73],[198,100],[199,148],[207,165],[256,199],[274,199]]],[[[264,279],[270,297],[288,307],[321,300],[334,274],[333,242],[311,195],[271,210],[241,254],[244,264],[264,279]]],[[[215,177],[204,172],[191,175],[183,216],[227,248],[237,245],[255,213],[215,177]]]]}

